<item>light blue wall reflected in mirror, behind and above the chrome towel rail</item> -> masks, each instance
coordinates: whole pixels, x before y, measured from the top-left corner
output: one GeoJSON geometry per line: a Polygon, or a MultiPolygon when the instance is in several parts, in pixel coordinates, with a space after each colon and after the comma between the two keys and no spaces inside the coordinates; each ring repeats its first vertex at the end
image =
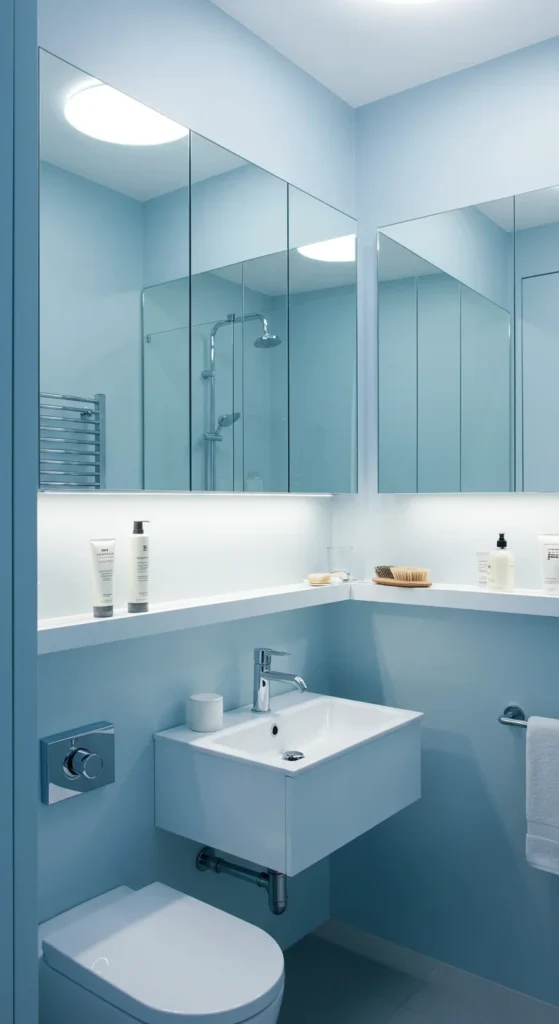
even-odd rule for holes
{"type": "Polygon", "coordinates": [[[142,208],[41,164],[41,390],[106,395],[106,486],[141,486],[142,208]]]}

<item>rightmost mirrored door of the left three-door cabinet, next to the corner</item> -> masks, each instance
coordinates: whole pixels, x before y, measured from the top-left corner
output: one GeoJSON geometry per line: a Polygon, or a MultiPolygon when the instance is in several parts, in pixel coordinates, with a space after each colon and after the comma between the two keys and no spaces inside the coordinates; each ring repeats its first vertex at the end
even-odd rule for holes
{"type": "Polygon", "coordinates": [[[357,488],[355,221],[290,185],[290,489],[357,488]]]}

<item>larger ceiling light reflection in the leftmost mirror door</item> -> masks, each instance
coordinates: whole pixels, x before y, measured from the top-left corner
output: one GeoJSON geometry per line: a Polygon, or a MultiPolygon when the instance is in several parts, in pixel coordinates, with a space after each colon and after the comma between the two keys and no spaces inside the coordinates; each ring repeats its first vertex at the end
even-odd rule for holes
{"type": "Polygon", "coordinates": [[[67,100],[64,117],[73,128],[119,145],[162,145],[188,129],[110,85],[92,85],[67,100]]]}

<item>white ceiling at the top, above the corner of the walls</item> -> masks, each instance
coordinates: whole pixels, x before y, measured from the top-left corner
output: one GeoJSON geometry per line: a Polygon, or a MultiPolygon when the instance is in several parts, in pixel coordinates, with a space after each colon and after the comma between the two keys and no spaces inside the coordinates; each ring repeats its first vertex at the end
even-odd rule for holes
{"type": "Polygon", "coordinates": [[[213,0],[352,106],[559,35],[559,0],[213,0]]]}

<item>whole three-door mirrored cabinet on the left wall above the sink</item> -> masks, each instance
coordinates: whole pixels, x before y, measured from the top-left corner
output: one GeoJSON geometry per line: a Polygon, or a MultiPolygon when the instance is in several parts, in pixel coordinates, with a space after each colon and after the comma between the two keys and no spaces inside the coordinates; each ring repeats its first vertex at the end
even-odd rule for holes
{"type": "Polygon", "coordinates": [[[355,222],[40,72],[41,488],[355,490],[355,222]]]}

